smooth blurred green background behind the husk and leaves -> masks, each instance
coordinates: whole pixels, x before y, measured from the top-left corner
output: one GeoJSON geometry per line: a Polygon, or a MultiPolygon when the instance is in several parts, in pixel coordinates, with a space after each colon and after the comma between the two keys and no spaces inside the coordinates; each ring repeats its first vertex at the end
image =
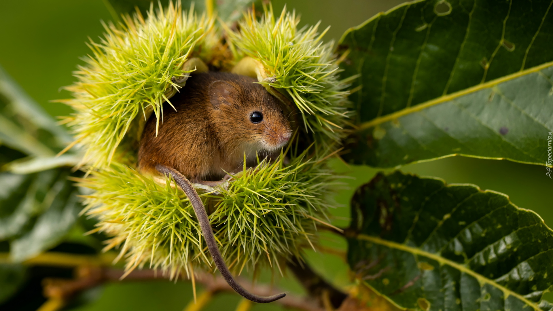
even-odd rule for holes
{"type": "MultiPolygon", "coordinates": [[[[339,40],[349,27],[356,26],[380,11],[401,3],[399,0],[296,0],[289,1],[289,9],[301,14],[301,25],[315,24],[321,28],[332,25],[326,39],[339,40]]],[[[286,1],[273,1],[276,12],[286,1]]],[[[71,71],[81,64],[80,57],[88,53],[87,38],[102,35],[100,20],[111,20],[102,0],[74,1],[2,1],[0,4],[0,65],[25,91],[53,116],[67,115],[70,108],[51,100],[64,99],[69,93],[60,89],[74,81],[71,71]]],[[[301,26],[300,25],[300,26],[301,26]]],[[[353,190],[368,182],[378,171],[368,167],[351,167],[338,160],[332,162],[342,174],[354,177],[344,179],[348,190],[337,195],[343,206],[334,212],[335,224],[347,225],[348,201],[353,190]]],[[[471,183],[482,189],[508,194],[521,208],[531,209],[553,225],[551,195],[553,180],[545,175],[545,168],[499,160],[452,157],[433,162],[407,165],[404,172],[443,178],[448,183],[471,183]]],[[[333,235],[324,235],[324,244],[345,250],[345,241],[333,235]]],[[[307,252],[311,265],[337,286],[348,284],[347,266],[335,255],[307,252]]],[[[293,293],[302,288],[291,279],[276,281],[280,287],[293,293]]],[[[269,281],[270,276],[261,281],[269,281]]],[[[188,282],[124,282],[107,284],[82,295],[82,299],[98,298],[93,303],[75,310],[182,310],[192,298],[188,282]]],[[[549,298],[549,297],[546,297],[549,298]]],[[[205,310],[234,310],[239,302],[236,294],[221,294],[205,310]]],[[[253,310],[280,310],[275,304],[256,305],[253,310]]]]}

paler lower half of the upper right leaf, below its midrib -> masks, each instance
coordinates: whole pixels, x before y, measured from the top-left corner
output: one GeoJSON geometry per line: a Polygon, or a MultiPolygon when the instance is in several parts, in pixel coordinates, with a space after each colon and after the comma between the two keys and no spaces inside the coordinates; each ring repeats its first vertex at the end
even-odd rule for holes
{"type": "Polygon", "coordinates": [[[462,154],[545,164],[553,67],[410,112],[352,134],[355,163],[395,167],[462,154]]]}

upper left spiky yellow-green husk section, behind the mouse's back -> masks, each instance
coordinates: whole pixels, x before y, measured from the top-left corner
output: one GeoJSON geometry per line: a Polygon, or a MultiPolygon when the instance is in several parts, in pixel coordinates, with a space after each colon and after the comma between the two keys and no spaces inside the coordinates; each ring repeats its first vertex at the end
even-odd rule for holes
{"type": "Polygon", "coordinates": [[[160,4],[155,13],[152,6],[147,19],[135,14],[123,20],[117,27],[105,25],[100,43],[91,40],[93,55],[75,72],[79,81],[67,87],[75,99],[65,102],[76,111],[67,121],[85,148],[83,162],[91,167],[105,166],[113,157],[132,162],[124,158],[137,137],[117,147],[133,119],[151,109],[159,120],[166,92],[178,89],[171,77],[184,76],[181,66],[192,56],[208,61],[219,44],[213,20],[198,18],[193,9],[183,12],[179,2],[165,9],[160,4]]]}

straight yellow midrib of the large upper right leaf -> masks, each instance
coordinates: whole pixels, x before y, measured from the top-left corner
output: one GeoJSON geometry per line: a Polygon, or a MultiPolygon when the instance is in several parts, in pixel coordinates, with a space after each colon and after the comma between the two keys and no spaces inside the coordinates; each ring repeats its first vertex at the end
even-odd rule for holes
{"type": "Polygon", "coordinates": [[[472,94],[474,92],[477,92],[477,91],[480,91],[480,90],[483,90],[483,89],[489,89],[489,88],[494,87],[498,84],[516,79],[516,78],[521,77],[521,76],[532,74],[534,72],[539,72],[540,70],[549,68],[550,66],[553,66],[553,61],[549,61],[545,64],[541,64],[541,65],[535,66],[533,68],[518,71],[518,72],[515,72],[514,74],[503,76],[503,77],[500,77],[498,79],[491,80],[491,81],[488,81],[488,82],[485,82],[485,83],[482,83],[482,84],[478,84],[478,85],[475,85],[475,86],[472,86],[472,87],[468,87],[465,90],[461,90],[461,91],[453,92],[453,93],[448,94],[448,95],[440,96],[440,97],[437,97],[435,99],[432,99],[432,100],[429,100],[429,101],[426,101],[426,102],[423,102],[423,103],[419,103],[418,105],[415,105],[415,106],[411,106],[411,107],[408,107],[408,108],[403,108],[402,110],[398,110],[394,113],[390,113],[389,115],[385,115],[385,116],[382,116],[382,117],[377,117],[377,118],[374,118],[371,121],[363,122],[363,123],[361,123],[361,125],[358,125],[354,129],[354,131],[355,132],[361,132],[361,131],[364,131],[365,129],[380,125],[384,122],[392,121],[392,120],[395,120],[399,117],[409,115],[410,113],[418,112],[418,111],[421,111],[425,108],[429,108],[429,107],[438,105],[440,103],[451,101],[451,100],[457,99],[458,97],[465,96],[465,95],[468,95],[468,94],[472,94]]]}

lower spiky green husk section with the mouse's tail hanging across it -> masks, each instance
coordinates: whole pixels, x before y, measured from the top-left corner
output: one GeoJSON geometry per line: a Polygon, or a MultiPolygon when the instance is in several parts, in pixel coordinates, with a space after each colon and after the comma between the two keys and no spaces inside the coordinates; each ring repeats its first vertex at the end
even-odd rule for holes
{"type": "MultiPolygon", "coordinates": [[[[328,194],[335,175],[306,152],[284,165],[284,156],[239,174],[220,194],[201,194],[211,211],[221,253],[234,272],[244,267],[276,266],[299,256],[317,241],[316,225],[328,222],[328,194]],[[316,221],[316,219],[321,220],[316,221]]],[[[111,169],[82,180],[96,190],[86,197],[87,214],[100,222],[100,231],[113,236],[107,248],[121,247],[127,269],[149,262],[174,275],[192,263],[211,267],[194,210],[180,189],[156,183],[134,169],[111,169]]],[[[209,269],[209,268],[208,268],[209,269]]]]}

